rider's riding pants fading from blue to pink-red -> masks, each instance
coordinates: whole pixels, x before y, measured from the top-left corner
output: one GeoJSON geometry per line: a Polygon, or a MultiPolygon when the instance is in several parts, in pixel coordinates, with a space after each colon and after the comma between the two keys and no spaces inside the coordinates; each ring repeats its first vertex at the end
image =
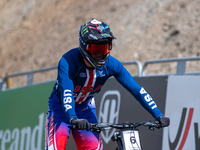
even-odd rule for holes
{"type": "MultiPolygon", "coordinates": [[[[97,123],[95,108],[80,110],[76,114],[78,118],[97,123]]],[[[48,111],[45,128],[45,150],[65,150],[70,132],[78,150],[103,150],[100,134],[73,129],[61,110],[52,111],[50,109],[48,111]]]]}

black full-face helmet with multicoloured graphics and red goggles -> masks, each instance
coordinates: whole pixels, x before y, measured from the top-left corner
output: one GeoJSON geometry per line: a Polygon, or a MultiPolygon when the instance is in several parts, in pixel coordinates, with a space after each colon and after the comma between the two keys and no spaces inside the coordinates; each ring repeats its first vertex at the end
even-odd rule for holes
{"type": "Polygon", "coordinates": [[[112,40],[116,39],[105,22],[92,19],[80,26],[79,49],[84,59],[94,68],[101,70],[112,49],[112,40]],[[93,55],[103,54],[102,59],[93,55]]]}

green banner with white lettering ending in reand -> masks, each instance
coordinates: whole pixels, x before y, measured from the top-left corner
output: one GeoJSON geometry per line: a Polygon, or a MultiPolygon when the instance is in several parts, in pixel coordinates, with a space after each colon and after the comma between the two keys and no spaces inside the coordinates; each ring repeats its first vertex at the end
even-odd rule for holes
{"type": "Polygon", "coordinates": [[[0,92],[0,149],[44,149],[48,97],[54,83],[0,92]]]}

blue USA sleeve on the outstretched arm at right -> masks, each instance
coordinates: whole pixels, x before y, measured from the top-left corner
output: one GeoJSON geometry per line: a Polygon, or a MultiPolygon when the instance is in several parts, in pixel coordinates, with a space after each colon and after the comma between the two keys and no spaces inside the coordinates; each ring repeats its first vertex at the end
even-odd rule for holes
{"type": "Polygon", "coordinates": [[[163,116],[151,96],[134,80],[121,62],[114,57],[109,59],[109,61],[111,72],[117,81],[126,88],[155,119],[159,116],[163,116]]]}

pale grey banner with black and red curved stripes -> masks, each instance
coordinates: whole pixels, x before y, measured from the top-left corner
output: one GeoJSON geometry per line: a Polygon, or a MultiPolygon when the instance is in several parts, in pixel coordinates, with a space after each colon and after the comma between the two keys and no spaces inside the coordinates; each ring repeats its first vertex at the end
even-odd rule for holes
{"type": "Polygon", "coordinates": [[[169,76],[163,150],[200,150],[200,76],[169,76]]]}

